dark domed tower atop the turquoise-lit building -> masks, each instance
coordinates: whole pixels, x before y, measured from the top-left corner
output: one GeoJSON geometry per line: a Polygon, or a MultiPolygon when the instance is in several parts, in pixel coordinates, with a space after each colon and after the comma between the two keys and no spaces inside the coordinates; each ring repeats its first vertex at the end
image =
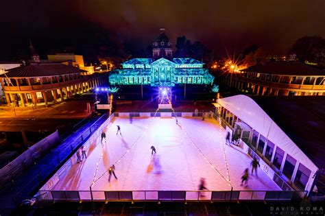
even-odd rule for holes
{"type": "Polygon", "coordinates": [[[164,28],[160,29],[160,34],[152,45],[154,46],[154,49],[152,49],[154,59],[173,58],[173,49],[171,48],[171,42],[169,42],[169,38],[165,35],[164,28]]]}

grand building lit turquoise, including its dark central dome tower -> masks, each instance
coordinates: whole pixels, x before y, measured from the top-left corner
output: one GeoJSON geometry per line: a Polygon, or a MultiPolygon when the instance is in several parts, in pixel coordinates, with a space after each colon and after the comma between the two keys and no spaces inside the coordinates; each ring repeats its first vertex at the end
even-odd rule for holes
{"type": "Polygon", "coordinates": [[[165,32],[160,32],[153,45],[153,58],[133,58],[123,62],[122,69],[115,69],[110,74],[110,85],[213,84],[215,77],[203,68],[203,62],[193,58],[172,58],[171,43],[165,32]]]}

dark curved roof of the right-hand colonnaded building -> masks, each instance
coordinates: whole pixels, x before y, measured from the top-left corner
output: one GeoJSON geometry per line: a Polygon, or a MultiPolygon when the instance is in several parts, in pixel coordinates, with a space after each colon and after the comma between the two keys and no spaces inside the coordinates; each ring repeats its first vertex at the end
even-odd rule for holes
{"type": "Polygon", "coordinates": [[[242,71],[278,75],[325,75],[325,70],[300,62],[265,62],[265,64],[255,64],[242,71]]]}

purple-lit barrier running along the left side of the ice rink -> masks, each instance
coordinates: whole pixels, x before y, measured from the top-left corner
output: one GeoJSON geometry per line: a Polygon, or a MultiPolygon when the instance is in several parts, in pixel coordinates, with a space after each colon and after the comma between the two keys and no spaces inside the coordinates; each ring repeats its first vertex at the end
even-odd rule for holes
{"type": "MultiPolygon", "coordinates": [[[[110,122],[112,121],[112,115],[110,115],[110,117],[108,117],[108,119],[106,119],[106,121],[104,121],[104,123],[102,123],[101,125],[96,125],[96,123],[94,123],[93,125],[95,127],[91,127],[93,128],[93,130],[90,130],[84,134],[81,135],[80,141],[82,141],[82,145],[80,145],[80,147],[77,148],[77,150],[75,151],[75,154],[73,154],[73,156],[71,156],[71,158],[69,158],[66,163],[64,163],[64,165],[62,165],[62,167],[60,167],[60,169],[58,169],[58,171],[56,171],[56,173],[54,173],[54,175],[43,185],[43,187],[40,188],[40,191],[42,190],[51,190],[59,181],[60,179],[64,178],[64,176],[70,171],[72,165],[74,165],[75,163],[77,163],[77,154],[76,152],[79,151],[79,149],[84,146],[84,148],[86,149],[86,154],[88,154],[88,149],[90,149],[91,147],[95,147],[96,145],[98,145],[98,143],[101,143],[101,132],[106,129],[108,127],[108,125],[110,124],[110,122]],[[86,137],[88,137],[88,139],[84,140],[86,137]]],[[[82,155],[81,155],[82,157],[82,155]]],[[[36,195],[39,195],[40,193],[36,193],[36,195]]]]}

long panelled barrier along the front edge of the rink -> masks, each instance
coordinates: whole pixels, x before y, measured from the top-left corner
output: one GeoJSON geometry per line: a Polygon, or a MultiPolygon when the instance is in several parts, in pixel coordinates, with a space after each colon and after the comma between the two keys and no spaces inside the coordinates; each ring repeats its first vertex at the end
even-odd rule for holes
{"type": "Polygon", "coordinates": [[[301,200],[306,191],[40,191],[38,201],[237,202],[301,200]]]}

